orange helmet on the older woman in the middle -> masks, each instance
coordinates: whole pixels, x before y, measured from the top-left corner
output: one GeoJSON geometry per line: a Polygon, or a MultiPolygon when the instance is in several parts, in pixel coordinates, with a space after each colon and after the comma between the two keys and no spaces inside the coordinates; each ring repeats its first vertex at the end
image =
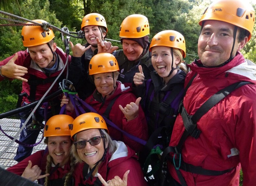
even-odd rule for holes
{"type": "Polygon", "coordinates": [[[92,57],[89,64],[89,75],[114,71],[119,71],[119,66],[112,54],[100,53],[92,57]]]}

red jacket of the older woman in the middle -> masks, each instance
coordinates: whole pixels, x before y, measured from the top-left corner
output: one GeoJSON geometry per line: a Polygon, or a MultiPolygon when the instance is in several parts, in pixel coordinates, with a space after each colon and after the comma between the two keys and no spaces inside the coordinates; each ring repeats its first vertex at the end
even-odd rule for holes
{"type": "MultiPolygon", "coordinates": [[[[127,104],[130,104],[130,102],[136,101],[136,96],[131,93],[132,89],[130,87],[125,87],[124,84],[117,81],[116,82],[117,88],[115,92],[109,96],[106,100],[104,105],[101,107],[102,101],[101,101],[101,95],[99,96],[98,91],[95,90],[95,92],[89,96],[85,102],[91,105],[99,114],[103,114],[109,103],[112,99],[114,99],[116,96],[119,96],[109,113],[109,120],[111,120],[113,123],[115,123],[119,128],[122,130],[128,132],[129,134],[136,136],[142,140],[148,139],[148,125],[147,121],[144,115],[144,112],[139,106],[139,115],[137,118],[127,121],[125,118],[125,115],[123,112],[119,109],[119,105],[122,105],[124,108],[127,104]],[[101,108],[100,108],[101,107],[101,108]]],[[[67,114],[71,115],[69,112],[67,114]]],[[[73,113],[74,114],[74,113],[73,113]]],[[[75,116],[73,116],[75,118],[75,116]]],[[[131,147],[136,152],[140,151],[142,149],[142,145],[131,140],[127,136],[123,135],[120,131],[114,129],[111,126],[108,126],[109,135],[114,138],[114,140],[117,141],[123,141],[126,145],[131,147]]]]}

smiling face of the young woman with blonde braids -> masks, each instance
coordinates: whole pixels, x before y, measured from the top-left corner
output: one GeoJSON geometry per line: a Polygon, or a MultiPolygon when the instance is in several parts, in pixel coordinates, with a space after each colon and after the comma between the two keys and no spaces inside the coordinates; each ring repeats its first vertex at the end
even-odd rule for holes
{"type": "Polygon", "coordinates": [[[70,159],[70,136],[50,136],[48,137],[49,154],[53,159],[53,163],[59,167],[64,166],[70,159]]]}

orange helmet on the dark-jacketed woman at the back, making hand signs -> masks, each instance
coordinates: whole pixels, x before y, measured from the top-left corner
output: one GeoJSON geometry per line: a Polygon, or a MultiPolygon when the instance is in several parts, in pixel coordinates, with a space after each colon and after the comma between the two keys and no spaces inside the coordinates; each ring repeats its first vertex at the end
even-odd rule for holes
{"type": "Polygon", "coordinates": [[[89,13],[84,16],[81,24],[81,30],[83,30],[83,28],[88,25],[103,26],[107,31],[107,23],[105,21],[105,18],[99,13],[89,13]]]}

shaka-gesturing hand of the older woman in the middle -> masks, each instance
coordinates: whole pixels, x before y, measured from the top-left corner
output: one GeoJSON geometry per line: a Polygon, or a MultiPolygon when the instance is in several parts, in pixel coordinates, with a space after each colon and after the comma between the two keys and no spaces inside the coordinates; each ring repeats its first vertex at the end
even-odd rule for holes
{"type": "Polygon", "coordinates": [[[138,97],[134,102],[130,102],[130,104],[127,104],[125,108],[122,107],[122,105],[119,105],[120,110],[125,115],[127,121],[133,120],[137,118],[139,114],[139,104],[140,104],[141,97],[138,97]]]}

